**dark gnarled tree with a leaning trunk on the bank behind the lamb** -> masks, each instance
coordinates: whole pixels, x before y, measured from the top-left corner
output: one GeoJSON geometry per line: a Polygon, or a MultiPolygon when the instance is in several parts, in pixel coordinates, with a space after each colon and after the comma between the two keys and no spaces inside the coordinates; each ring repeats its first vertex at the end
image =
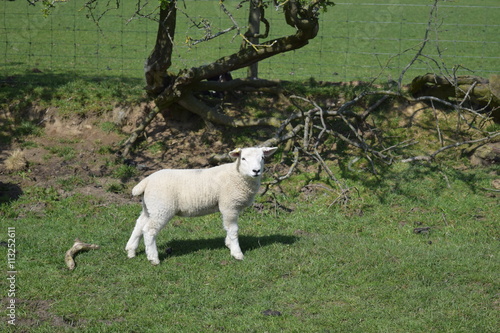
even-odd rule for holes
{"type": "MultiPolygon", "coordinates": [[[[264,0],[249,0],[249,3],[251,7],[249,21],[253,22],[253,24],[249,25],[249,29],[244,35],[244,42],[238,52],[222,57],[207,65],[186,68],[178,73],[171,73],[168,69],[172,64],[178,3],[177,0],[164,0],[161,2],[156,45],[146,60],[144,68],[147,83],[146,90],[148,95],[154,99],[156,109],[152,110],[144,118],[142,124],[125,142],[123,147],[124,155],[129,153],[137,138],[152,119],[154,119],[155,115],[173,104],[180,105],[207,121],[226,126],[253,126],[265,123],[276,125],[274,119],[234,119],[219,113],[215,108],[209,107],[203,101],[196,98],[193,92],[197,90],[231,90],[243,87],[259,88],[275,85],[275,82],[257,81],[253,80],[253,78],[232,80],[231,82],[224,83],[205,80],[251,66],[263,59],[307,45],[309,40],[316,37],[318,33],[318,15],[320,9],[326,10],[333,3],[327,0],[275,1],[275,5],[282,8],[286,23],[294,27],[296,31],[292,35],[268,40],[260,44],[255,44],[254,42],[258,38],[267,38],[269,32],[269,22],[265,19],[267,4],[264,0]],[[258,29],[256,29],[256,17],[265,25],[265,32],[263,34],[260,34],[257,31],[258,29]]],[[[220,6],[225,13],[231,15],[224,7],[223,1],[220,2],[220,6]]],[[[233,28],[239,29],[236,25],[233,28]]],[[[207,39],[212,37],[207,36],[207,39]]]]}

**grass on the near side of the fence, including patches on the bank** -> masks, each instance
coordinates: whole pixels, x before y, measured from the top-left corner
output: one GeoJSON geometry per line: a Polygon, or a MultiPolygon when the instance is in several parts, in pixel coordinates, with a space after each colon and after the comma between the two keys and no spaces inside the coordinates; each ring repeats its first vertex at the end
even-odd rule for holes
{"type": "MultiPolygon", "coordinates": [[[[2,91],[11,112],[52,105],[68,119],[65,126],[93,119],[93,134],[57,136],[24,119],[0,126],[1,147],[37,152],[27,169],[0,170],[0,257],[4,276],[17,271],[14,282],[0,280],[0,331],[497,331],[500,210],[491,189],[500,170],[472,167],[458,152],[434,163],[378,165],[373,175],[351,170],[352,152],[339,147],[338,160],[328,162],[351,188],[348,204],[331,205],[337,194],[328,179],[301,162],[301,172],[242,215],[244,261],[225,248],[218,214],[174,218],[158,238],[159,266],[149,264],[142,244],[127,259],[124,246],[141,210],[129,193],[142,175],[116,159],[125,136],[104,119],[112,111],[106,105],[133,87],[76,80],[55,90],[14,85],[2,91]],[[105,175],[89,175],[99,165],[105,175]],[[30,185],[17,185],[9,199],[7,189],[16,184],[30,185]],[[101,248],[79,254],[69,271],[64,253],[76,237],[101,248]],[[9,244],[16,245],[10,261],[9,244]],[[8,323],[11,299],[15,329],[8,323]]],[[[429,115],[415,116],[411,128],[398,125],[403,116],[395,111],[371,120],[388,137],[413,136],[419,149],[433,149],[439,140],[429,115]]],[[[454,117],[441,119],[446,137],[454,133],[446,124],[454,117]]],[[[159,151],[147,165],[174,162],[160,156],[176,140],[141,146],[159,151]]],[[[280,156],[286,158],[280,152],[269,161],[268,174],[280,156]]]]}

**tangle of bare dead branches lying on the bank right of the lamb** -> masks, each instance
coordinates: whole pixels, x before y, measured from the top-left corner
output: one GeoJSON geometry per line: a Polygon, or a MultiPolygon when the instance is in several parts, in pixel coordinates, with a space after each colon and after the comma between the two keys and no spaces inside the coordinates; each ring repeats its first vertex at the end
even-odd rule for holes
{"type": "MultiPolygon", "coordinates": [[[[468,98],[467,96],[468,94],[465,94],[464,98],[468,98]]],[[[478,113],[474,108],[466,107],[466,103],[464,103],[463,100],[452,102],[436,96],[412,97],[402,91],[395,92],[379,90],[365,91],[356,96],[354,99],[345,102],[337,109],[324,109],[314,100],[301,96],[292,95],[289,96],[289,99],[297,110],[292,112],[285,120],[282,121],[274,137],[262,142],[259,146],[279,145],[285,143],[287,146],[290,146],[291,143],[291,146],[295,147],[293,150],[293,162],[284,175],[274,175],[274,179],[265,184],[266,191],[269,186],[278,184],[279,182],[289,178],[297,169],[299,161],[313,160],[318,163],[321,170],[323,170],[327,174],[328,178],[336,185],[338,198],[334,201],[334,203],[347,203],[352,189],[349,188],[344,182],[340,181],[332,171],[331,161],[336,159],[336,157],[331,157],[331,151],[326,152],[330,154],[330,159],[323,156],[323,153],[326,150],[325,143],[327,140],[332,141],[332,138],[335,138],[336,142],[343,142],[350,147],[349,149],[356,151],[356,153],[354,153],[356,156],[347,164],[349,170],[356,171],[353,169],[353,165],[360,159],[364,158],[368,161],[369,165],[371,165],[371,171],[376,174],[376,165],[379,163],[390,165],[396,161],[403,163],[432,161],[438,154],[441,154],[446,150],[467,144],[482,144],[500,136],[500,132],[498,131],[486,132],[477,129],[477,132],[482,135],[481,138],[469,138],[445,146],[445,140],[450,139],[445,138],[445,134],[443,133],[439,123],[438,112],[444,112],[442,107],[451,108],[457,111],[457,122],[465,120],[468,122],[469,128],[475,128],[474,122],[478,117],[488,118],[487,115],[478,113]],[[373,95],[380,95],[381,97],[374,104],[368,106],[364,111],[353,111],[356,105],[362,105],[366,98],[373,95]],[[389,98],[398,98],[408,103],[428,103],[433,110],[436,131],[442,147],[428,155],[403,158],[401,154],[395,154],[394,152],[413,146],[417,144],[418,141],[414,139],[407,139],[399,143],[391,144],[388,147],[384,147],[384,142],[386,140],[383,137],[377,136],[376,144],[369,143],[365,133],[367,131],[369,133],[375,132],[376,128],[372,128],[371,125],[367,123],[368,117],[375,110],[380,108],[382,103],[389,98]],[[438,108],[437,105],[441,105],[442,107],[438,108]],[[466,114],[469,116],[465,117],[466,114]]]]}

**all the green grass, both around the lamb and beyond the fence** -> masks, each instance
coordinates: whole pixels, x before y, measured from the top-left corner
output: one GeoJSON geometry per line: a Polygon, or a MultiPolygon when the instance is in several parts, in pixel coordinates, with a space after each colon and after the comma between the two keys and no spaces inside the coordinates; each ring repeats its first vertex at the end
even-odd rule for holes
{"type": "MultiPolygon", "coordinates": [[[[37,151],[27,169],[0,169],[0,331],[498,331],[500,202],[491,189],[500,169],[472,167],[457,151],[433,163],[379,165],[373,175],[349,169],[352,152],[339,148],[338,160],[328,162],[352,189],[349,203],[331,205],[336,194],[325,187],[328,179],[304,162],[301,173],[259,196],[242,215],[244,261],[233,260],[225,248],[218,214],[173,219],[158,237],[159,266],[147,262],[142,244],[138,256],[127,259],[124,247],[141,210],[129,193],[140,171],[117,160],[116,144],[125,135],[109,116],[117,105],[144,102],[142,64],[156,33],[152,22],[124,24],[131,3],[102,21],[101,34],[75,11],[78,1],[61,4],[46,19],[23,1],[0,2],[0,44],[5,45],[0,108],[12,117],[0,114],[0,148],[37,151]],[[85,141],[83,131],[58,137],[43,129],[45,118],[24,116],[37,108],[47,114],[56,110],[64,126],[88,121],[92,133],[101,136],[85,141]],[[36,174],[49,162],[48,177],[36,174]],[[89,173],[82,163],[98,170],[101,163],[105,176],[89,173]],[[21,183],[31,185],[9,198],[7,189],[21,183]],[[79,254],[76,269],[69,271],[64,253],[76,237],[100,249],[79,254]],[[5,278],[11,270],[17,272],[15,281],[5,278]],[[8,322],[12,299],[15,327],[8,322]]],[[[196,9],[213,15],[216,3],[198,1],[196,9]]],[[[263,62],[263,76],[373,78],[393,55],[418,45],[430,11],[424,5],[431,1],[361,3],[337,3],[324,15],[316,40],[263,62]]],[[[499,7],[494,0],[480,5],[442,3],[439,39],[447,66],[460,63],[487,76],[498,73],[499,7]]],[[[208,49],[188,50],[186,31],[195,33],[180,24],[174,66],[208,62],[229,45],[215,41],[208,49]]],[[[239,42],[230,45],[237,49],[239,42]]],[[[431,47],[428,54],[434,51],[431,47]]],[[[397,78],[412,55],[392,58],[394,68],[383,70],[380,79],[397,78]]],[[[421,68],[409,78],[436,63],[417,65],[421,68]]],[[[303,82],[296,82],[300,94],[316,96],[303,82]]],[[[336,89],[356,94],[356,88],[336,89]]],[[[330,93],[330,98],[338,95],[330,93]]],[[[370,115],[374,128],[398,142],[414,136],[424,153],[439,147],[432,112],[415,112],[408,128],[395,110],[370,115]]],[[[446,143],[458,135],[458,127],[450,125],[457,118],[452,111],[439,118],[446,143]]],[[[233,142],[248,142],[245,131],[240,135],[233,142]]],[[[161,155],[177,139],[141,149],[161,155]]],[[[422,153],[416,146],[408,149],[422,153]]],[[[271,170],[280,154],[269,161],[271,170]]]]}

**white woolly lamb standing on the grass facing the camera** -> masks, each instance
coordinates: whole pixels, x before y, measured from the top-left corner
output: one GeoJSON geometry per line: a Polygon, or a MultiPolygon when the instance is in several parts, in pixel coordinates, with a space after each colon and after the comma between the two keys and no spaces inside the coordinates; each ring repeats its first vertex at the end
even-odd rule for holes
{"type": "Polygon", "coordinates": [[[160,170],[143,179],[132,189],[132,195],[144,194],[142,212],[137,219],[125,250],[135,257],[141,236],[144,235],[146,255],[158,265],[156,236],[177,216],[202,216],[222,213],[227,232],[226,246],[231,255],[243,259],[238,242],[238,216],[252,204],[260,187],[264,157],[277,148],[243,148],[229,153],[236,161],[209,169],[160,170]]]}

